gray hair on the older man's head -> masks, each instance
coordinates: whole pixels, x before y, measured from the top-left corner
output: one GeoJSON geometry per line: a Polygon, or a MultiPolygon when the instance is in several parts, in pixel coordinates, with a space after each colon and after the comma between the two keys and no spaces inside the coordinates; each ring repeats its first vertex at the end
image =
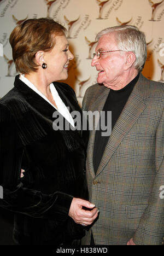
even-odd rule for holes
{"type": "Polygon", "coordinates": [[[115,33],[115,39],[118,43],[119,50],[132,51],[136,55],[136,61],[134,62],[134,67],[138,72],[142,71],[145,61],[147,60],[147,43],[145,39],[145,34],[139,31],[135,26],[115,26],[108,27],[100,31],[96,40],[98,40],[104,34],[115,33]]]}

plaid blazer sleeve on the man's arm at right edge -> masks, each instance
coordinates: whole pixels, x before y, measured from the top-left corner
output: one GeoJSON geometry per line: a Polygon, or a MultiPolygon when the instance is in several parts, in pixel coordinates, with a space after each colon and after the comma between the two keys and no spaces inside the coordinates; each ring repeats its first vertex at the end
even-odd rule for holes
{"type": "Polygon", "coordinates": [[[164,199],[160,196],[164,185],[164,110],[156,131],[156,176],[148,201],[148,207],[140,219],[133,236],[136,245],[162,245],[164,236],[164,199]]]}

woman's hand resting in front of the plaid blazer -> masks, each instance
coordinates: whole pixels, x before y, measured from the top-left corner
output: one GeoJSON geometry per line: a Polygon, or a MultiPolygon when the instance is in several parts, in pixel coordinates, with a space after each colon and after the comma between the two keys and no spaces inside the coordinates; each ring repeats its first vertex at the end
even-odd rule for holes
{"type": "Polygon", "coordinates": [[[74,197],[68,215],[75,223],[87,226],[91,225],[97,218],[98,209],[93,205],[93,203],[74,197]],[[89,210],[84,210],[83,207],[88,208],[89,210]]]}

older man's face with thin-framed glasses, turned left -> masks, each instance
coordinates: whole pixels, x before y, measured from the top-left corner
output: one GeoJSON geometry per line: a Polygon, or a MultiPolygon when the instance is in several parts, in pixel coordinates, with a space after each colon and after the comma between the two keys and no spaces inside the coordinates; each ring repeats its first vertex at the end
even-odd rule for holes
{"type": "MultiPolygon", "coordinates": [[[[119,50],[115,40],[115,32],[104,34],[99,38],[95,50],[119,50]]],[[[97,71],[99,71],[97,82],[100,84],[103,83],[108,88],[116,89],[115,86],[121,83],[125,59],[124,51],[104,53],[101,54],[99,59],[97,59],[97,56],[93,57],[91,65],[95,66],[97,71]]]]}

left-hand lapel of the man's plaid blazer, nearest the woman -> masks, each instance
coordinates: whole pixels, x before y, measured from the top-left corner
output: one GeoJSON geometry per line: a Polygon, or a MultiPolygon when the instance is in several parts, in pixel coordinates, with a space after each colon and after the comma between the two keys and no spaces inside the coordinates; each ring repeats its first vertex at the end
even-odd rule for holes
{"type": "MultiPolygon", "coordinates": [[[[96,110],[100,112],[103,110],[104,104],[106,103],[108,94],[110,89],[102,87],[103,92],[97,97],[97,100],[93,103],[92,109],[90,109],[92,112],[95,112],[96,110]]],[[[96,127],[95,122],[93,122],[93,130],[90,131],[90,138],[89,143],[87,146],[87,166],[89,167],[89,170],[91,172],[92,178],[95,177],[95,171],[93,168],[93,149],[95,144],[95,135],[96,135],[96,127]]]]}

